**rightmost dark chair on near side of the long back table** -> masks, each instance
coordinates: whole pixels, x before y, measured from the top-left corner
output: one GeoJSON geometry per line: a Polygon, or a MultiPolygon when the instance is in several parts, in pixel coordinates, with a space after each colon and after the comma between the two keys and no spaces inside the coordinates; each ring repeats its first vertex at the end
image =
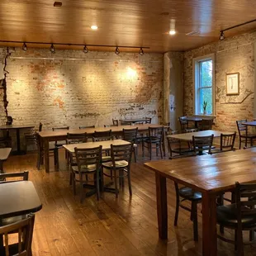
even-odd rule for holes
{"type": "Polygon", "coordinates": [[[162,146],[163,146],[163,138],[164,138],[164,126],[159,128],[149,127],[149,137],[146,137],[142,140],[142,155],[145,154],[145,149],[149,149],[150,160],[152,159],[152,149],[153,145],[156,149],[156,155],[159,155],[159,149],[161,158],[163,159],[162,146]]]}

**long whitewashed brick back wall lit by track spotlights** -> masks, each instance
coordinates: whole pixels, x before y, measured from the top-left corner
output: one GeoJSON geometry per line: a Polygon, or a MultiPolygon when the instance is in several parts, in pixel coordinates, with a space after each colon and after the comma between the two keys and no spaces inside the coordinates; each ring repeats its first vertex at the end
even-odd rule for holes
{"type": "MultiPolygon", "coordinates": [[[[16,49],[7,62],[13,123],[103,126],[111,119],[163,115],[163,55],[16,49]],[[21,59],[18,59],[21,58],[21,59]],[[51,59],[54,58],[54,59],[51,59]]],[[[1,96],[0,96],[1,97],[1,96]]]]}

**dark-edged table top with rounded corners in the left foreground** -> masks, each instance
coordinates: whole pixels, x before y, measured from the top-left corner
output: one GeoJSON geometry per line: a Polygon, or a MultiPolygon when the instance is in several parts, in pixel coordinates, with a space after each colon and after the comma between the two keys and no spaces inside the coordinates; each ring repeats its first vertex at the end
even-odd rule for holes
{"type": "Polygon", "coordinates": [[[40,211],[42,203],[31,181],[0,183],[0,219],[40,211]]]}

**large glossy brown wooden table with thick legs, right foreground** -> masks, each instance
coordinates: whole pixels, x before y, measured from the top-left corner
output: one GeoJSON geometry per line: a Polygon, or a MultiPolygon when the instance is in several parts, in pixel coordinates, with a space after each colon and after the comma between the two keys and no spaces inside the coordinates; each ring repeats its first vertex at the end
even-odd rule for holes
{"type": "Polygon", "coordinates": [[[202,253],[217,255],[216,196],[235,188],[235,182],[256,183],[255,163],[256,148],[145,163],[155,172],[159,238],[168,238],[169,178],[202,193],[202,253]]]}

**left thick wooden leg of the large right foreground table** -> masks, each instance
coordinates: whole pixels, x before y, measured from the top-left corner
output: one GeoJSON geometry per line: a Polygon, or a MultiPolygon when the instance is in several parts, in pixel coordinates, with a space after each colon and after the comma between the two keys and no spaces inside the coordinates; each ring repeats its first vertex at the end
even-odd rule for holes
{"type": "Polygon", "coordinates": [[[159,224],[159,238],[168,239],[168,211],[167,211],[167,192],[166,178],[160,173],[155,173],[156,202],[159,224]]]}

